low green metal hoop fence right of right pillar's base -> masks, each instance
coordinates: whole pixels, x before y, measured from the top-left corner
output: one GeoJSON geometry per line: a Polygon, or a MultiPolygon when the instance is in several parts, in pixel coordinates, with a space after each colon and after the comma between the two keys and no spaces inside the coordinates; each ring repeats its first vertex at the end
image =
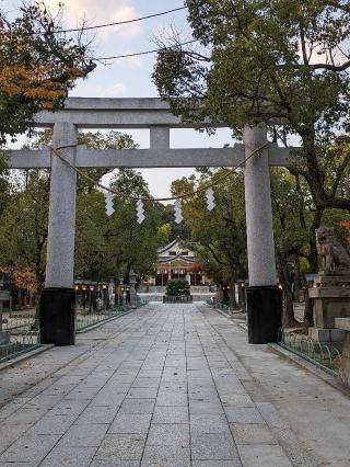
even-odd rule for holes
{"type": "Polygon", "coordinates": [[[338,376],[341,365],[341,354],[338,349],[329,348],[296,332],[288,332],[284,328],[279,331],[278,344],[328,374],[338,376]]]}

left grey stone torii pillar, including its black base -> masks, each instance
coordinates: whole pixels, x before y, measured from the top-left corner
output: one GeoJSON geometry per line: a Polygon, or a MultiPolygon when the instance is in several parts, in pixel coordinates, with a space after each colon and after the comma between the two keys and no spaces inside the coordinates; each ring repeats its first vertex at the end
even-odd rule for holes
{"type": "MultiPolygon", "coordinates": [[[[75,163],[77,128],[55,123],[54,148],[75,163]]],[[[40,296],[43,344],[74,344],[74,231],[77,173],[51,155],[50,201],[45,288],[40,296]]]]}

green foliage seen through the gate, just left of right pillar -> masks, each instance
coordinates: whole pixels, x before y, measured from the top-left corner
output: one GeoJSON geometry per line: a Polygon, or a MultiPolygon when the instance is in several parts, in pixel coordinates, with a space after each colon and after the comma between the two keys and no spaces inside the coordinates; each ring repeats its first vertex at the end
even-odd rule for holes
{"type": "MultiPolygon", "coordinates": [[[[173,193],[188,192],[207,185],[209,181],[226,173],[220,169],[201,175],[200,180],[180,180],[173,183],[173,193]]],[[[209,212],[205,192],[183,203],[184,224],[190,239],[185,244],[191,249],[217,283],[245,277],[246,236],[243,173],[230,175],[214,186],[215,208],[209,212]]]]}

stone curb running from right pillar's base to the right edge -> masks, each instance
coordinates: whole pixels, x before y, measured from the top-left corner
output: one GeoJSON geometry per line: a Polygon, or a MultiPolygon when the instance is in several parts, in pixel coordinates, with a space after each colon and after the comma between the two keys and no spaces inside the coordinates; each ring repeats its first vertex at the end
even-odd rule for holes
{"type": "Polygon", "coordinates": [[[269,343],[267,344],[267,348],[276,353],[277,355],[281,356],[282,358],[290,360],[293,363],[295,363],[298,366],[300,366],[303,369],[306,369],[308,373],[312,373],[314,376],[318,377],[323,381],[327,383],[329,386],[334,387],[335,389],[342,392],[345,396],[350,397],[350,389],[345,386],[340,379],[338,379],[335,376],[329,375],[328,373],[324,372],[320,368],[317,368],[317,366],[313,365],[312,363],[304,360],[302,356],[295,355],[292,352],[290,352],[287,349],[281,348],[280,345],[276,343],[269,343]]]}

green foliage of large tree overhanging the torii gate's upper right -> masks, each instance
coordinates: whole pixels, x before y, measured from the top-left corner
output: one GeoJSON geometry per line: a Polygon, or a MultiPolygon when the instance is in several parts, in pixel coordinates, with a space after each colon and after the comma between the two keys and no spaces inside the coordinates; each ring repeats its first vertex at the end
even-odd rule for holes
{"type": "Polygon", "coordinates": [[[347,0],[187,0],[198,44],[160,52],[153,79],[185,121],[245,125],[278,118],[273,137],[303,144],[292,169],[308,184],[317,209],[350,210],[339,190],[349,151],[325,184],[329,145],[350,123],[350,8],[347,0]],[[328,149],[325,151],[325,147],[328,149]]]}

